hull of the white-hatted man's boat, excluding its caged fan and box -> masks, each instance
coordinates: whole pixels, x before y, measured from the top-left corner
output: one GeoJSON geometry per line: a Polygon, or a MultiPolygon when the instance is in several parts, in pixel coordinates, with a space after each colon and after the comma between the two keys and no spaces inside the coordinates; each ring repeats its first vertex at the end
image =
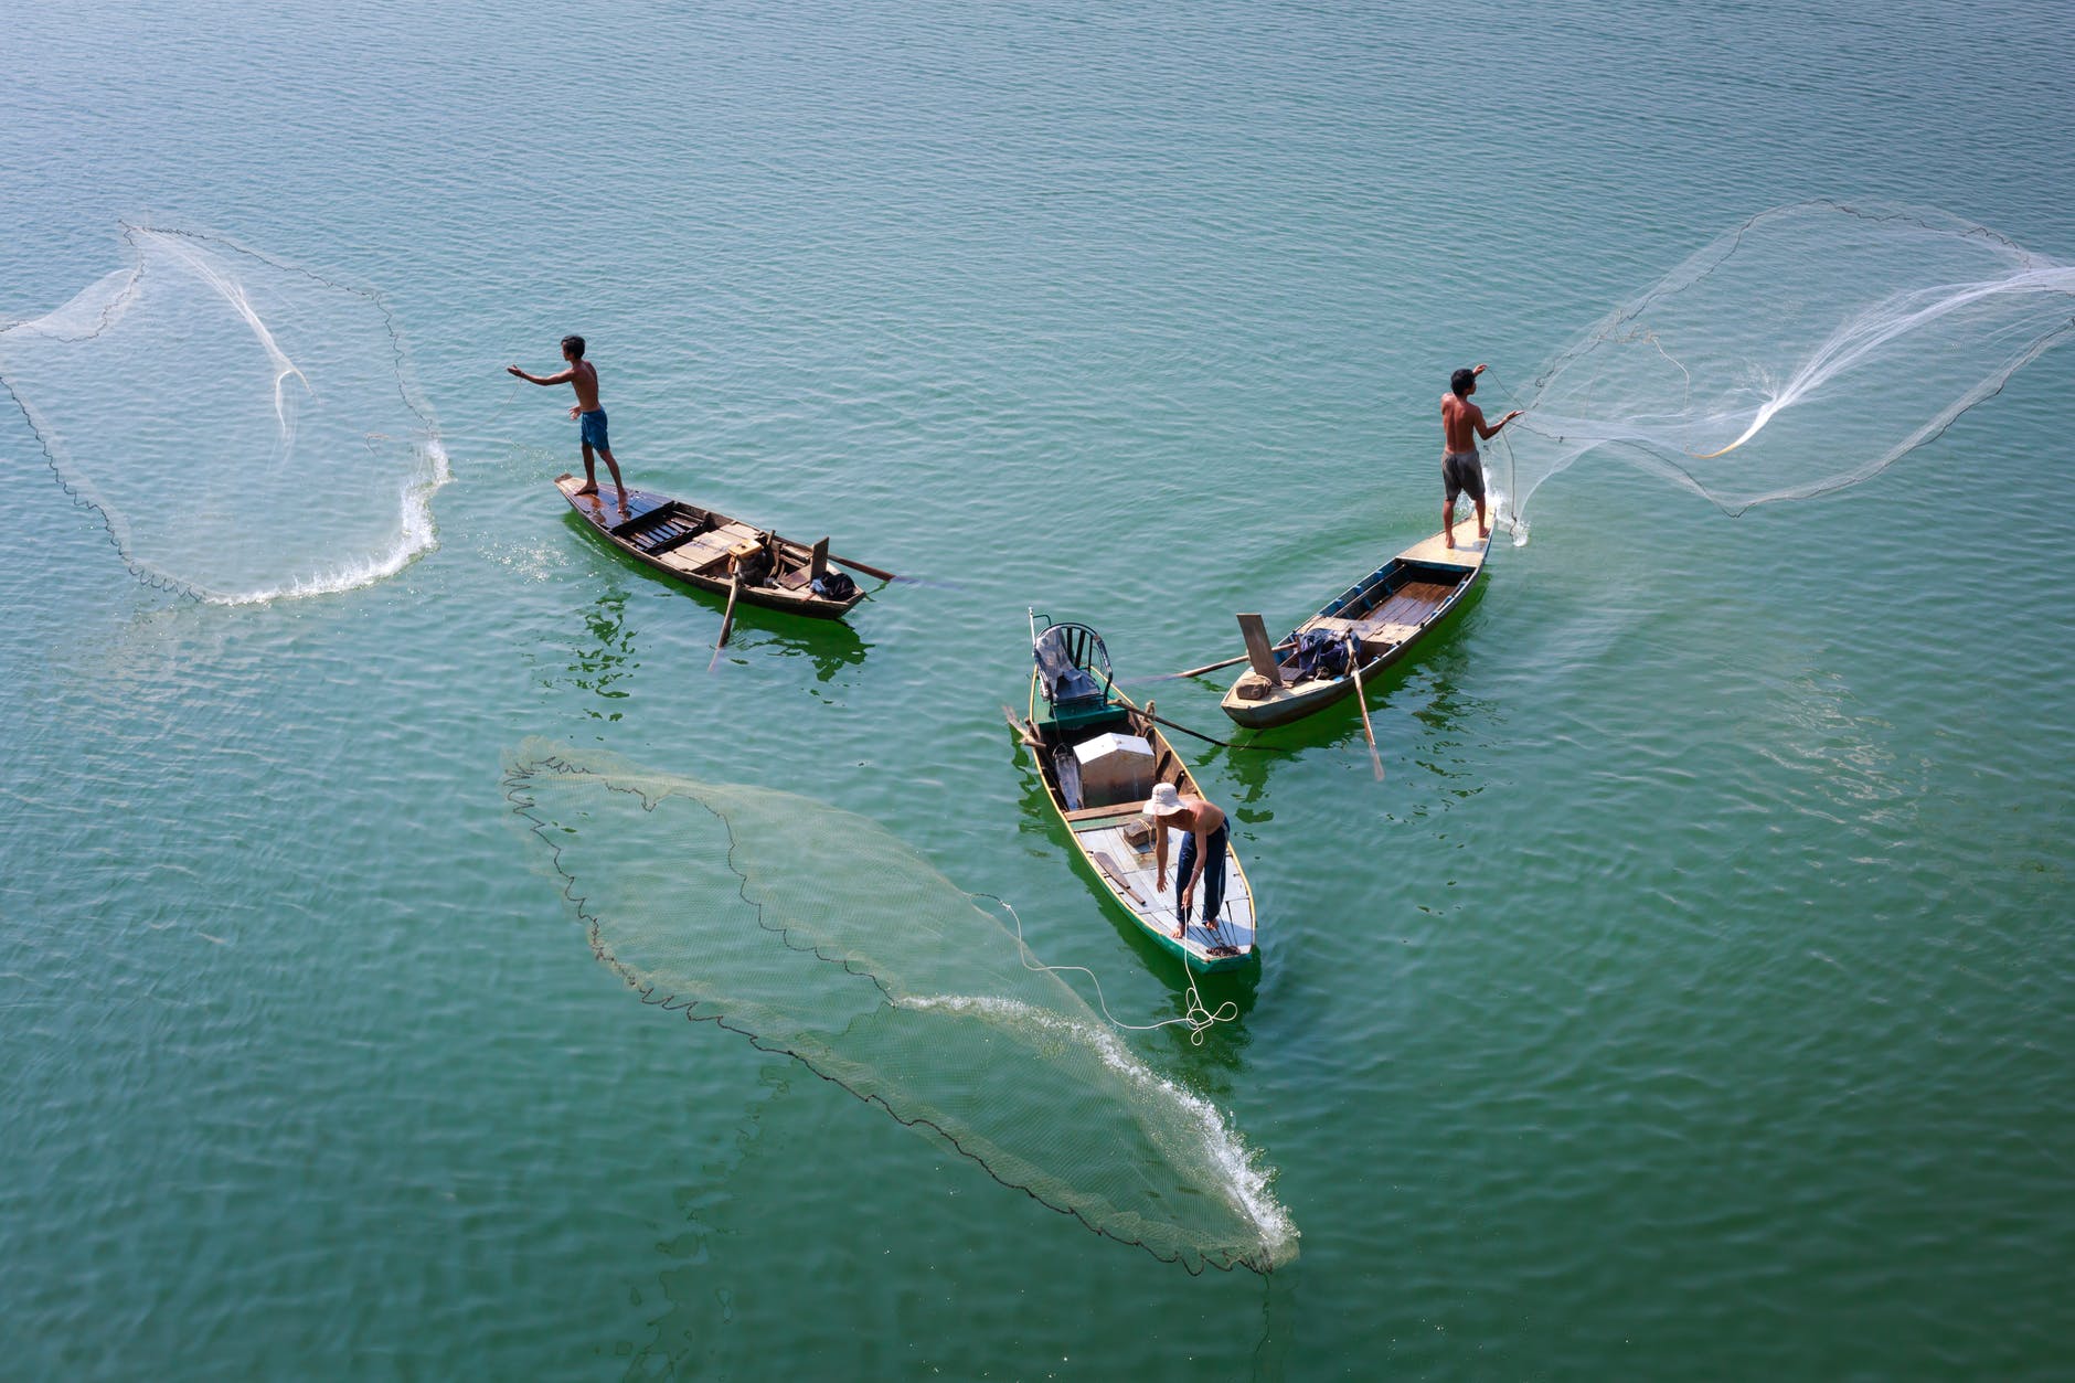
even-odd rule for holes
{"type": "MultiPolygon", "coordinates": [[[[1195,775],[1174,752],[1174,745],[1166,741],[1160,727],[1145,718],[1129,696],[1114,692],[1112,698],[1120,710],[1120,716],[1110,729],[1141,735],[1154,748],[1154,777],[1156,781],[1174,783],[1179,791],[1199,797],[1195,775]]],[[[1044,704],[1040,692],[1040,677],[1031,673],[1029,689],[1029,710],[1023,723],[1025,748],[1031,750],[1031,758],[1038,768],[1038,779],[1044,783],[1046,799],[1052,804],[1054,816],[1067,829],[1067,839],[1073,841],[1075,853],[1094,872],[1098,883],[1102,883],[1104,893],[1114,901],[1125,914],[1137,924],[1137,928],[1154,941],[1162,951],[1181,959],[1191,972],[1206,970],[1243,970],[1247,966],[1260,964],[1260,926],[1253,912],[1253,885],[1247,880],[1247,870],[1239,862],[1239,851],[1233,847],[1230,833],[1226,835],[1224,851],[1224,905],[1216,920],[1216,926],[1206,926],[1201,912],[1191,918],[1187,932],[1174,937],[1174,870],[1181,862],[1181,841],[1187,833],[1168,831],[1168,880],[1166,889],[1154,889],[1154,849],[1147,843],[1143,849],[1133,847],[1125,837],[1123,829],[1131,820],[1141,818],[1143,799],[1139,802],[1116,802],[1096,808],[1073,808],[1062,795],[1058,775],[1048,762],[1050,754],[1079,743],[1087,735],[1079,735],[1064,729],[1058,721],[1050,716],[1050,708],[1044,704]],[[1038,743],[1031,743],[1031,741],[1038,743]],[[1040,748],[1042,745],[1042,748],[1040,748]]],[[[1104,731],[1094,731],[1104,733],[1104,731]]],[[[1164,826],[1162,826],[1164,829],[1164,826]]],[[[1201,889],[1197,889],[1201,897],[1201,889]]]]}

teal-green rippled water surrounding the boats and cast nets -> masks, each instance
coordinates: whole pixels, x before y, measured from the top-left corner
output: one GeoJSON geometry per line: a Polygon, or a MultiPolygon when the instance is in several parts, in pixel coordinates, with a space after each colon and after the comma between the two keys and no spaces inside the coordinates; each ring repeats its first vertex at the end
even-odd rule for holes
{"type": "MultiPolygon", "coordinates": [[[[388,428],[394,378],[313,372],[290,465],[168,307],[156,353],[66,365],[60,430],[120,444],[0,424],[0,1375],[2067,1377],[2071,351],[1735,519],[1581,461],[1372,687],[1382,785],[1351,706],[1195,758],[1266,961],[1204,1045],[1120,1042],[1266,1177],[1266,1277],[643,1005],[504,783],[546,737],[811,797],[1170,1018],[1002,725],[1025,608],[1125,677],[1295,623],[1434,532],[1448,370],[1525,392],[1766,208],[2075,260],[2056,6],[6,29],[0,324],[122,272],[125,224],[247,247],[259,318],[409,363],[446,480],[388,575],[199,602],[112,527],[203,563],[199,496],[284,569],[382,557],[342,496],[398,461],[324,428],[388,428]],[[710,669],[718,602],[573,525],[566,397],[502,374],[571,330],[633,480],[928,584],[745,615],[710,669]]],[[[1220,689],[1152,694],[1226,737],[1220,689]]],[[[639,820],[598,847],[668,883],[639,820]]],[[[1029,1101],[1019,1148],[1069,1144],[1029,1101]]]]}

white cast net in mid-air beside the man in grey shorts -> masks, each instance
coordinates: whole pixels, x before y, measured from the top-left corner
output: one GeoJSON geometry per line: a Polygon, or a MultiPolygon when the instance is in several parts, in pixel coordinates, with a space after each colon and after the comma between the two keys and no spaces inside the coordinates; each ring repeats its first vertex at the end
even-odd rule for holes
{"type": "MultiPolygon", "coordinates": [[[[1857,484],[2075,330],[2075,268],[1938,212],[1809,201],[1724,235],[1562,351],[1494,457],[1525,540],[1610,449],[1728,513],[1857,484]]],[[[1486,411],[1492,413],[1490,401],[1486,411]]]]}

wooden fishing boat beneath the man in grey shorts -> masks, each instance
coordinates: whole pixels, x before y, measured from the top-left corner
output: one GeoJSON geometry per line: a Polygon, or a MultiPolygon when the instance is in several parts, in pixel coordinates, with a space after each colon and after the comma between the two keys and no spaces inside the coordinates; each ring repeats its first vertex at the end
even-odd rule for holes
{"type": "Polygon", "coordinates": [[[1241,615],[1239,633],[1247,642],[1247,671],[1218,702],[1224,714],[1249,729],[1289,725],[1332,706],[1411,650],[1448,617],[1484,575],[1490,538],[1477,538],[1477,521],[1455,525],[1455,546],[1444,534],[1415,542],[1361,577],[1280,644],[1270,646],[1260,615],[1241,615]],[[1353,640],[1351,671],[1320,677],[1301,671],[1299,650],[1311,631],[1318,638],[1353,640]]]}

